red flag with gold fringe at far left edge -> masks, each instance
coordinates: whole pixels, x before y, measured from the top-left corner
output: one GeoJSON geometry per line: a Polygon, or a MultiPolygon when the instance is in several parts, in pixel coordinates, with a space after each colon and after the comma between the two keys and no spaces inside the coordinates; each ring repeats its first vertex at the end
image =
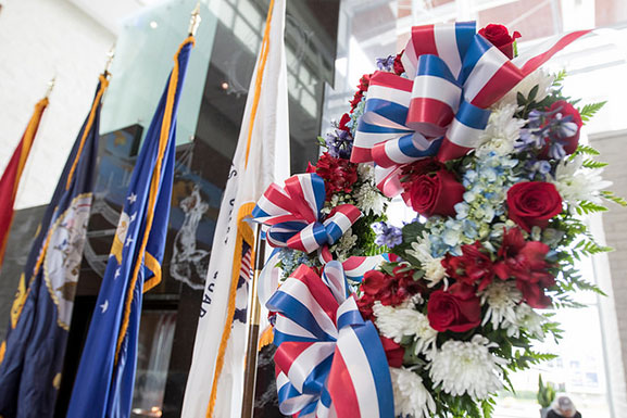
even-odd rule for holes
{"type": "Polygon", "coordinates": [[[41,99],[35,105],[35,112],[33,112],[28,126],[26,126],[20,143],[13,151],[13,156],[9,161],[2,178],[0,178],[0,266],[4,258],[7,239],[13,220],[13,204],[17,194],[17,186],[46,106],[48,106],[48,98],[41,99]]]}

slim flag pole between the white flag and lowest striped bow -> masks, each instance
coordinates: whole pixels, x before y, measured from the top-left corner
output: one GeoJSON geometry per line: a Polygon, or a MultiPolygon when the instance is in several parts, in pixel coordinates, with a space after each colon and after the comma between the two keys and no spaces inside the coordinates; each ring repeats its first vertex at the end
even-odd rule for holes
{"type": "Polygon", "coordinates": [[[254,411],[254,387],[256,383],[256,356],[259,345],[259,322],[261,306],[256,296],[259,276],[265,259],[265,245],[262,240],[261,225],[255,226],[254,273],[250,286],[250,309],[248,315],[248,344],[246,349],[246,368],[243,379],[243,400],[241,403],[241,418],[252,418],[254,411]]]}

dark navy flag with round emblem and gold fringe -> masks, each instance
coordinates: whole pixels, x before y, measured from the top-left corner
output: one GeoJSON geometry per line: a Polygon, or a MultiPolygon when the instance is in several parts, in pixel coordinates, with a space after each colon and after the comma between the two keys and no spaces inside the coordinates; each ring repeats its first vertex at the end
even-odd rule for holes
{"type": "Polygon", "coordinates": [[[100,76],[91,111],[72,148],[30,248],[0,346],[0,417],[52,417],[61,383],[98,152],[100,76]]]}

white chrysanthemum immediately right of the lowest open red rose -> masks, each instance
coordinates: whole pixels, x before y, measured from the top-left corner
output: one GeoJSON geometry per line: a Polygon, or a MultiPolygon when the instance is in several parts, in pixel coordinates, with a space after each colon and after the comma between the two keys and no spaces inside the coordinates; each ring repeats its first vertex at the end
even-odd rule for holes
{"type": "Polygon", "coordinates": [[[498,329],[505,320],[509,322],[516,320],[515,308],[523,300],[523,293],[516,288],[514,281],[496,280],[480,292],[480,296],[481,305],[488,304],[481,325],[492,322],[492,328],[498,329]]]}

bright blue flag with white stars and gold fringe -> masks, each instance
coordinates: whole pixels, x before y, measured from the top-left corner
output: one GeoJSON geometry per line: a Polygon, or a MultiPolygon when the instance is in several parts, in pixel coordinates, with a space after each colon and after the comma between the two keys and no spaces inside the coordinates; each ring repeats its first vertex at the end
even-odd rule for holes
{"type": "Polygon", "coordinates": [[[175,65],[137,157],[67,410],[128,417],[142,293],[161,281],[174,177],[176,112],[193,38],[175,65]]]}

